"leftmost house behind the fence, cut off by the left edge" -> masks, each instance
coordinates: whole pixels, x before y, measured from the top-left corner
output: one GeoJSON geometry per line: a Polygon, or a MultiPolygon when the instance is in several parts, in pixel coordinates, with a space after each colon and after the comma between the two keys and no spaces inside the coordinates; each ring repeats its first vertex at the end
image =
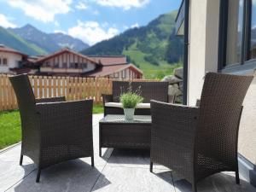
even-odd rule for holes
{"type": "Polygon", "coordinates": [[[22,67],[26,54],[0,44],[0,73],[14,73],[17,68],[22,67]]]}

